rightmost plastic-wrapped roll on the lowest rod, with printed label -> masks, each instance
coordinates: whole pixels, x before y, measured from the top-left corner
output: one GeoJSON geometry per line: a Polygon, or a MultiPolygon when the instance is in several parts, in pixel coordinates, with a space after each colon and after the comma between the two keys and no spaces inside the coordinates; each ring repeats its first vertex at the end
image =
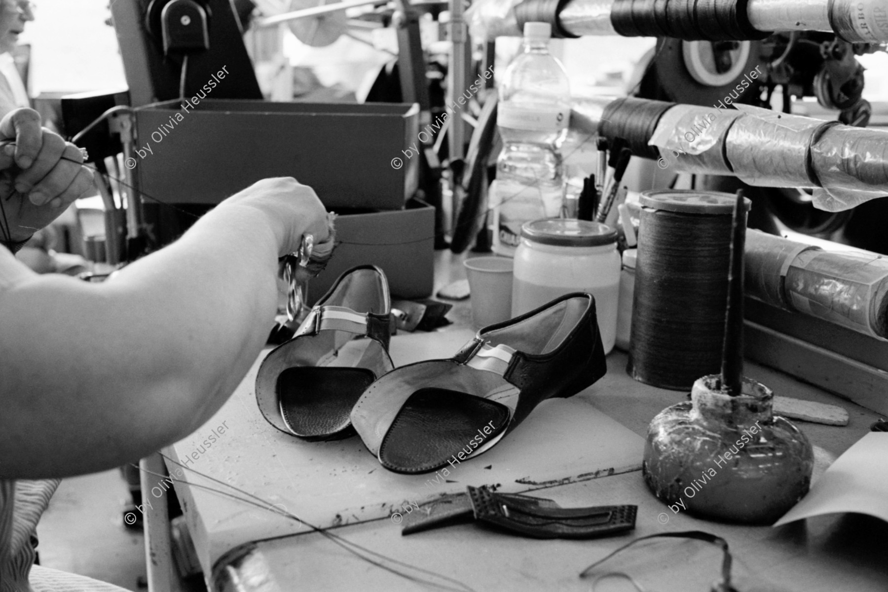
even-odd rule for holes
{"type": "Polygon", "coordinates": [[[860,333],[888,337],[888,259],[805,250],[789,264],[789,305],[860,333]]]}

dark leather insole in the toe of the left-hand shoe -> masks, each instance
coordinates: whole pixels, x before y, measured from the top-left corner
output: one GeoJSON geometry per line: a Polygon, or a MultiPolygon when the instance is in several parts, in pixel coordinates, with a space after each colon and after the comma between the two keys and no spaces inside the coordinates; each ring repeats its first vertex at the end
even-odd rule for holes
{"type": "Polygon", "coordinates": [[[352,407],[374,380],[367,368],[287,368],[277,384],[283,420],[302,438],[333,437],[349,427],[352,407]]]}

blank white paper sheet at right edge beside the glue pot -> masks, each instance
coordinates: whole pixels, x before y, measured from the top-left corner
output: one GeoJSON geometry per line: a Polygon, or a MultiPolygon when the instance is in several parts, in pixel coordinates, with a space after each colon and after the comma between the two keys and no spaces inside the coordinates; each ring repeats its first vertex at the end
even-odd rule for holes
{"type": "Polygon", "coordinates": [[[860,438],[774,526],[837,512],[859,512],[888,522],[888,432],[873,431],[860,438]]]}

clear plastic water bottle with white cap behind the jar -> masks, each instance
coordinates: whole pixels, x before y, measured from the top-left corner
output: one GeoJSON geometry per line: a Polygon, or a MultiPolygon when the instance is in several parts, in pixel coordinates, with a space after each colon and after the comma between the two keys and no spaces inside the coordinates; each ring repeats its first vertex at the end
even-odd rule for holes
{"type": "Polygon", "coordinates": [[[503,152],[489,192],[497,255],[514,256],[521,225],[557,217],[564,199],[559,147],[567,137],[570,83],[549,53],[550,38],[549,23],[525,23],[523,51],[500,84],[496,124],[503,152]]]}

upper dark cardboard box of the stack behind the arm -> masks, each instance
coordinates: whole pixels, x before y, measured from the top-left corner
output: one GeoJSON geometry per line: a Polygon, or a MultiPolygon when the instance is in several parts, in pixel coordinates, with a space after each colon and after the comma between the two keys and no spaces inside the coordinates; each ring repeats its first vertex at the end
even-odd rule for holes
{"type": "Polygon", "coordinates": [[[419,107],[401,103],[178,100],[136,112],[142,191],[215,204],[259,179],[293,177],[329,208],[399,209],[416,193],[419,107]],[[190,107],[188,107],[190,105],[190,107]]]}

